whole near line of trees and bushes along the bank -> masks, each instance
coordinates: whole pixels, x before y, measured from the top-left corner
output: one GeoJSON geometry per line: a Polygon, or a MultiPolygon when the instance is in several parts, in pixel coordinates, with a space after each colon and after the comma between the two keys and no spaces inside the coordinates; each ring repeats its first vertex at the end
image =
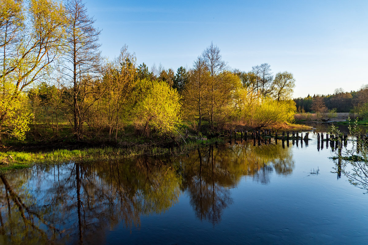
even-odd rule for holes
{"type": "Polygon", "coordinates": [[[66,126],[76,140],[117,142],[128,125],[176,137],[183,124],[199,135],[293,121],[292,73],[232,69],[213,43],[189,69],[149,69],[126,45],[102,57],[81,0],[4,0],[0,17],[0,140],[57,138],[66,126]]]}

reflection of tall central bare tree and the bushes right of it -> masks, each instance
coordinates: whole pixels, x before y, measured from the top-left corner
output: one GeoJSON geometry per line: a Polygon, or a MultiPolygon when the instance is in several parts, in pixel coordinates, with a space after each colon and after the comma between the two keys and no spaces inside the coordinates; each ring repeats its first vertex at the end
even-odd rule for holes
{"type": "Polygon", "coordinates": [[[269,183],[273,169],[277,174],[290,174],[294,168],[291,151],[281,145],[254,147],[251,141],[223,148],[197,150],[198,154],[181,159],[183,190],[189,192],[191,205],[198,219],[213,225],[221,221],[223,210],[233,202],[229,188],[241,177],[253,176],[255,181],[269,183]]]}

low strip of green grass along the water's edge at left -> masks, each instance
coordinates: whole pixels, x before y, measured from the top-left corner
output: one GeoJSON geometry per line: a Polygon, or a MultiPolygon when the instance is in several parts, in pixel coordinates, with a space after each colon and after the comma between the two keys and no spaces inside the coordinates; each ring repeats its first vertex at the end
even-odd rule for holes
{"type": "MultiPolygon", "coordinates": [[[[221,139],[216,139],[223,143],[221,139]]],[[[153,145],[136,145],[133,147],[103,147],[83,149],[56,149],[52,151],[5,151],[0,152],[0,173],[31,167],[34,164],[60,164],[70,161],[92,162],[98,160],[116,160],[139,155],[180,155],[206,144],[214,144],[215,139],[188,141],[178,147],[162,148],[153,145]]]]}

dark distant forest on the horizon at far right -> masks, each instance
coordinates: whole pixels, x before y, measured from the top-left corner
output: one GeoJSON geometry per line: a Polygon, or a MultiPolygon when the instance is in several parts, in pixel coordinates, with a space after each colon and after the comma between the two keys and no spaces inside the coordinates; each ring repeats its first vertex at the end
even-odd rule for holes
{"type": "Polygon", "coordinates": [[[329,110],[336,112],[359,112],[368,101],[368,85],[362,86],[358,91],[345,92],[342,88],[335,89],[333,94],[313,95],[304,98],[294,98],[298,112],[314,112],[312,103],[322,98],[329,110]]]}

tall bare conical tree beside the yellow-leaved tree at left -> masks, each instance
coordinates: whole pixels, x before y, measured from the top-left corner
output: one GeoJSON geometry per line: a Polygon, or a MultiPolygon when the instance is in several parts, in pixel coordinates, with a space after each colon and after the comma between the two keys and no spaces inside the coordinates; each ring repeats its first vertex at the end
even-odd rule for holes
{"type": "Polygon", "coordinates": [[[74,133],[79,139],[82,137],[86,110],[96,100],[95,98],[86,103],[86,97],[96,92],[93,87],[99,76],[100,30],[93,27],[95,20],[88,16],[87,9],[81,0],[68,0],[66,12],[68,22],[63,74],[71,83],[72,124],[74,133]]]}

